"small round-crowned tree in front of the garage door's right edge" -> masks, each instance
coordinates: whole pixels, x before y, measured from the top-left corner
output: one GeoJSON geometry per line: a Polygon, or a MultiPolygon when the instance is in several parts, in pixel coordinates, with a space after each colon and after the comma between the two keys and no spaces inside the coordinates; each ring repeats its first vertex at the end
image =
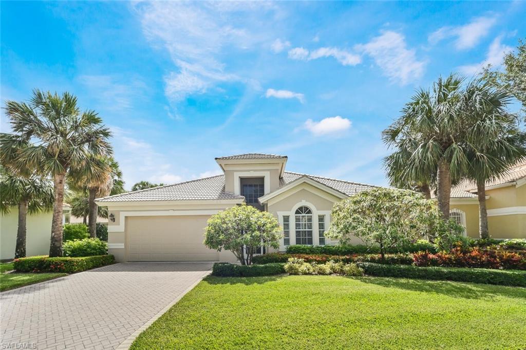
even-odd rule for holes
{"type": "Polygon", "coordinates": [[[258,247],[279,248],[281,232],[281,227],[272,214],[242,204],[208,219],[204,244],[217,251],[229,250],[241,265],[250,265],[258,247]]]}

